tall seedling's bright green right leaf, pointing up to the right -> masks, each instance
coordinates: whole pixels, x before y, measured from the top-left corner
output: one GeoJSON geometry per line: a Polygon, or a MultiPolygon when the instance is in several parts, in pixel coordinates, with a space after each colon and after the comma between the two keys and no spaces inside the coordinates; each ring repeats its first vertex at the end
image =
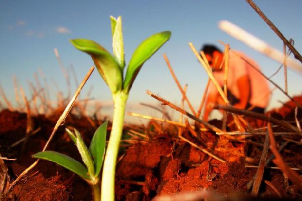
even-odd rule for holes
{"type": "Polygon", "coordinates": [[[127,93],[129,93],[133,81],[144,62],[148,60],[167,40],[169,40],[170,36],[170,31],[153,34],[136,48],[129,62],[123,84],[123,88],[127,93]]]}

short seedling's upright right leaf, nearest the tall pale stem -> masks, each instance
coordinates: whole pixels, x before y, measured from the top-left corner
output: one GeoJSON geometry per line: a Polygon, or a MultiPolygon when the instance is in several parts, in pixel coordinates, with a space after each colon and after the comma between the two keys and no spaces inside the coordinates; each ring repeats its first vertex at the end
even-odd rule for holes
{"type": "Polygon", "coordinates": [[[94,132],[94,136],[90,142],[89,151],[94,160],[95,176],[97,177],[101,171],[106,148],[107,124],[105,121],[94,132]]]}

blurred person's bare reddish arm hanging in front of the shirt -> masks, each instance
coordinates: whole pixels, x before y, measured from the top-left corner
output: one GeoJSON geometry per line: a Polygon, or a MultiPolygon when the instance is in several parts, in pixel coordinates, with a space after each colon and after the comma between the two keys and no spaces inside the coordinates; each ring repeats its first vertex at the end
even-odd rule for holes
{"type": "Polygon", "coordinates": [[[248,75],[244,75],[237,80],[239,90],[239,102],[234,105],[238,109],[245,109],[251,94],[251,86],[248,75]]]}

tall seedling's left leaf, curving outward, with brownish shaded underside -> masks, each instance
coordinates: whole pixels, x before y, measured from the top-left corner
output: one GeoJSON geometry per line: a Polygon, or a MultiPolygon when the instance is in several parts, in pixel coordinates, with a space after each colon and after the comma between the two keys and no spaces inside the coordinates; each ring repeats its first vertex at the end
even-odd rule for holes
{"type": "Polygon", "coordinates": [[[88,39],[73,39],[71,43],[78,49],[89,54],[103,80],[115,93],[122,88],[122,71],[113,56],[100,44],[88,39]]]}

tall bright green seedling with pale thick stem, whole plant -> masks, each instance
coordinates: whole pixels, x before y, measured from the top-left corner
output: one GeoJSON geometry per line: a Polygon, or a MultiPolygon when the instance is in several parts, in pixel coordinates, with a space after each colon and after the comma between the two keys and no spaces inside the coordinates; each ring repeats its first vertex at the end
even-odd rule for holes
{"type": "Polygon", "coordinates": [[[132,84],[143,66],[167,40],[171,32],[164,31],[151,35],[134,51],[124,76],[124,44],[122,34],[122,19],[110,16],[112,30],[113,56],[100,44],[93,40],[74,39],[71,43],[92,57],[98,72],[109,86],[114,102],[113,123],[107,146],[103,173],[101,200],[114,201],[115,167],[119,142],[122,135],[125,105],[132,84]]]}

